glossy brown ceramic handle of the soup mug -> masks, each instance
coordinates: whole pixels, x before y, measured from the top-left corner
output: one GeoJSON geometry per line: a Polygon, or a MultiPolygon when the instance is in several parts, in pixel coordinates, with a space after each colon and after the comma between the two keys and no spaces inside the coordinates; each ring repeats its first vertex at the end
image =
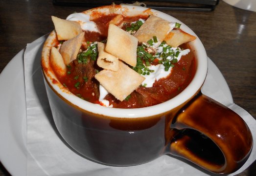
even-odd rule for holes
{"type": "Polygon", "coordinates": [[[253,146],[250,129],[228,107],[201,91],[174,117],[170,153],[218,174],[238,170],[253,146]]]}

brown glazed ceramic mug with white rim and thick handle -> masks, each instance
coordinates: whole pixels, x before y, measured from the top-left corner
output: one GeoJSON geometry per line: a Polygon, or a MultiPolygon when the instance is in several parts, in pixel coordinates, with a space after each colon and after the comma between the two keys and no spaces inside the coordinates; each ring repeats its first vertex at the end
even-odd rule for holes
{"type": "MultiPolygon", "coordinates": [[[[127,16],[154,14],[168,21],[181,21],[140,6],[104,6],[95,11],[127,16]]],[[[182,23],[183,29],[196,36],[182,23]]],[[[207,55],[200,39],[190,42],[197,68],[190,84],[176,97],[161,104],[137,108],[108,108],[87,102],[70,93],[49,65],[50,49],[56,43],[51,32],[42,52],[42,70],[52,115],[69,145],[97,162],[131,166],[165,154],[181,156],[202,168],[221,174],[233,173],[252,150],[252,135],[229,108],[203,95],[207,55]]]]}

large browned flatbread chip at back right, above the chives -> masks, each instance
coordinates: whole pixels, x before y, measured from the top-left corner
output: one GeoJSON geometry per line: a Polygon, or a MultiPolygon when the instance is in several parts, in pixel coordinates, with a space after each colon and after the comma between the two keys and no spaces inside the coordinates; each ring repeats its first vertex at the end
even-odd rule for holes
{"type": "Polygon", "coordinates": [[[140,29],[134,34],[140,42],[147,42],[156,36],[162,42],[170,30],[170,22],[163,20],[159,17],[151,15],[141,26],[140,29]]]}

